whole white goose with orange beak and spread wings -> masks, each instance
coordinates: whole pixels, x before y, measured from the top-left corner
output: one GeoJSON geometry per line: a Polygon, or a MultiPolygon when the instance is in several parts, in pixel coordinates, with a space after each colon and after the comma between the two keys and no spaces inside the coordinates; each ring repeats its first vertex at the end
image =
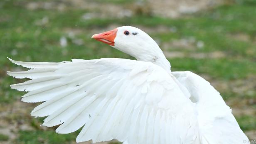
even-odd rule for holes
{"type": "Polygon", "coordinates": [[[209,82],[171,72],[158,44],[142,30],[123,26],[92,38],[135,57],[21,62],[8,72],[32,80],[11,85],[28,91],[23,102],[44,102],[32,116],[57,133],[83,127],[76,142],[117,139],[129,144],[243,144],[248,138],[209,82]]]}

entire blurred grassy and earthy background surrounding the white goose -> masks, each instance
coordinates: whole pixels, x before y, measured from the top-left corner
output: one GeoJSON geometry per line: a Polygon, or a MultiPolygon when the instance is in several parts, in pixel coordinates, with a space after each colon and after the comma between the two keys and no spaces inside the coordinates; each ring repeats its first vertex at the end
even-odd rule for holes
{"type": "Polygon", "coordinates": [[[40,127],[43,118],[30,116],[39,104],[20,102],[25,93],[10,89],[25,80],[6,75],[25,69],[7,57],[133,59],[91,39],[123,25],[152,36],[172,71],[192,71],[212,83],[241,129],[256,139],[256,0],[1,0],[0,143],[72,144],[78,134],[40,127]]]}

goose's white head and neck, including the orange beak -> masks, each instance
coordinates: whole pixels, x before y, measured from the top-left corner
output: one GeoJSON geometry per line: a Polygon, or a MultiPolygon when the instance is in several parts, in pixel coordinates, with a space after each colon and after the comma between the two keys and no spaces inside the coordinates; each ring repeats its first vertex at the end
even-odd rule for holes
{"type": "Polygon", "coordinates": [[[152,62],[170,71],[170,63],[158,44],[147,33],[136,27],[118,27],[94,34],[91,38],[123,51],[138,61],[152,62]]]}

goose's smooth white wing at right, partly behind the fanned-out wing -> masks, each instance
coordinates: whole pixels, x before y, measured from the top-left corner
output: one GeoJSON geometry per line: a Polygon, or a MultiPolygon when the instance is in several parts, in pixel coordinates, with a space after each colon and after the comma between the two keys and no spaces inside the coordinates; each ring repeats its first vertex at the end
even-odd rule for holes
{"type": "Polygon", "coordinates": [[[222,96],[204,78],[190,71],[172,72],[196,103],[202,143],[242,144],[249,142],[222,96]]]}

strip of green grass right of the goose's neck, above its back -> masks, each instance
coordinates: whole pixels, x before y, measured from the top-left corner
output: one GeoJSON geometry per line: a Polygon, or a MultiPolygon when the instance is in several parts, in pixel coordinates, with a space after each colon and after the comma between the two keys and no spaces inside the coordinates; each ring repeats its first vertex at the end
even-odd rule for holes
{"type": "Polygon", "coordinates": [[[256,73],[256,63],[246,60],[177,58],[170,61],[173,71],[189,70],[217,79],[234,80],[256,73]]]}

